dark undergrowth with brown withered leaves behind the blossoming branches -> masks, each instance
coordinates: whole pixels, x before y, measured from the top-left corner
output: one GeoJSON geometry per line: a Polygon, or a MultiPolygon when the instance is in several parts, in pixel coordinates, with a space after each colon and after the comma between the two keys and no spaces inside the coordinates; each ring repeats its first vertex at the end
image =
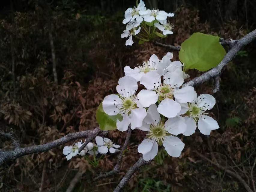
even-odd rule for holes
{"type": "MultiPolygon", "coordinates": [[[[146,7],[175,12],[170,21],[174,34],[164,41],[181,45],[194,32],[241,38],[255,29],[256,1],[145,1],[146,7]]],[[[120,34],[126,8],[135,1],[31,1],[1,2],[0,11],[0,119],[15,128],[23,146],[52,141],[70,132],[98,126],[95,112],[103,98],[115,92],[123,67],[161,58],[167,49],[151,43],[125,46],[120,34]],[[58,84],[53,79],[50,46],[54,42],[58,84]]],[[[216,106],[210,115],[220,124],[210,137],[195,133],[183,137],[181,158],[171,158],[164,150],[151,166],[140,169],[125,191],[244,191],[243,187],[193,153],[194,150],[232,166],[245,180],[255,153],[255,42],[239,52],[221,75],[221,91],[214,96],[216,106]],[[211,154],[208,154],[211,153],[211,154]]],[[[174,52],[174,59],[178,53],[174,52]]],[[[193,78],[200,74],[188,70],[193,78]]],[[[212,94],[213,82],[198,87],[212,94]]],[[[110,131],[116,143],[125,133],[110,131]]],[[[132,144],[144,133],[136,130],[132,144]]],[[[0,138],[0,147],[11,143],[0,138]]],[[[76,174],[85,174],[76,191],[111,191],[125,170],[133,164],[136,149],[126,152],[122,171],[113,178],[92,183],[100,170],[113,168],[116,155],[106,155],[95,170],[83,158],[66,161],[62,147],[28,155],[0,168],[1,191],[38,191],[46,164],[44,191],[65,191],[76,174]]]]}

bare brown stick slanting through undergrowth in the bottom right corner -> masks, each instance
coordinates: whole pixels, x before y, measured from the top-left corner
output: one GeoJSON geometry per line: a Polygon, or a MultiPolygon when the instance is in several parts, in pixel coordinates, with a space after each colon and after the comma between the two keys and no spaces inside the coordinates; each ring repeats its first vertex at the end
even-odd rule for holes
{"type": "Polygon", "coordinates": [[[208,159],[207,157],[205,157],[204,155],[200,154],[199,152],[197,151],[194,151],[198,156],[200,156],[201,158],[203,158],[204,160],[208,161],[209,163],[215,165],[216,167],[218,167],[219,169],[223,170],[223,171],[226,171],[227,174],[229,174],[230,176],[236,178],[239,182],[241,182],[243,184],[243,186],[245,187],[245,189],[248,191],[248,192],[253,192],[251,190],[251,188],[249,187],[249,185],[245,182],[244,179],[242,179],[241,176],[239,176],[238,174],[234,173],[233,171],[230,171],[227,169],[227,167],[223,167],[221,166],[220,164],[218,163],[215,163],[213,162],[212,160],[208,159]]]}

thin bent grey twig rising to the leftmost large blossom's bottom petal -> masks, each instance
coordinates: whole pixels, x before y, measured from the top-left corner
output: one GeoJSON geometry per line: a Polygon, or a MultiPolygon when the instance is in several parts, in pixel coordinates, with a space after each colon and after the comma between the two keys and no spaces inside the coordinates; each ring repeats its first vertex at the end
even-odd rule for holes
{"type": "Polygon", "coordinates": [[[105,178],[105,177],[109,177],[109,176],[115,175],[116,173],[120,172],[120,166],[121,166],[121,162],[122,162],[122,158],[123,158],[123,152],[125,151],[125,149],[128,146],[128,143],[130,141],[130,137],[131,137],[131,125],[129,125],[129,127],[128,127],[128,132],[127,132],[127,136],[126,136],[126,139],[125,139],[125,143],[122,146],[120,154],[118,155],[115,167],[110,172],[107,172],[107,173],[104,173],[104,174],[100,174],[99,176],[95,177],[93,179],[94,181],[96,181],[98,179],[101,179],[101,178],[105,178]]]}

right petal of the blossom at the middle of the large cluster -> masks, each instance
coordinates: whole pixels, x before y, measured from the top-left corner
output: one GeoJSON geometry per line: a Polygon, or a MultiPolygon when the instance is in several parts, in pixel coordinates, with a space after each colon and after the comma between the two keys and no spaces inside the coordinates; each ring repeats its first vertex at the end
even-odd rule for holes
{"type": "Polygon", "coordinates": [[[175,101],[178,101],[179,103],[192,102],[195,96],[194,92],[195,90],[192,86],[185,86],[181,89],[177,89],[174,92],[175,101]]]}

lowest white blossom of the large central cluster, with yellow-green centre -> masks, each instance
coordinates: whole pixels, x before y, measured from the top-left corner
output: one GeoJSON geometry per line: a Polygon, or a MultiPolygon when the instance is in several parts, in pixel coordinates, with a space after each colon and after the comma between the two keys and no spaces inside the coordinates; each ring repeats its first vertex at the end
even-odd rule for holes
{"type": "Polygon", "coordinates": [[[181,116],[169,118],[165,124],[160,121],[160,115],[155,104],[147,111],[143,126],[139,129],[148,131],[148,138],[138,146],[138,152],[143,154],[143,159],[149,161],[158,153],[158,144],[163,144],[164,149],[172,157],[179,157],[185,144],[172,134],[180,134],[185,129],[184,119],[181,116]]]}

